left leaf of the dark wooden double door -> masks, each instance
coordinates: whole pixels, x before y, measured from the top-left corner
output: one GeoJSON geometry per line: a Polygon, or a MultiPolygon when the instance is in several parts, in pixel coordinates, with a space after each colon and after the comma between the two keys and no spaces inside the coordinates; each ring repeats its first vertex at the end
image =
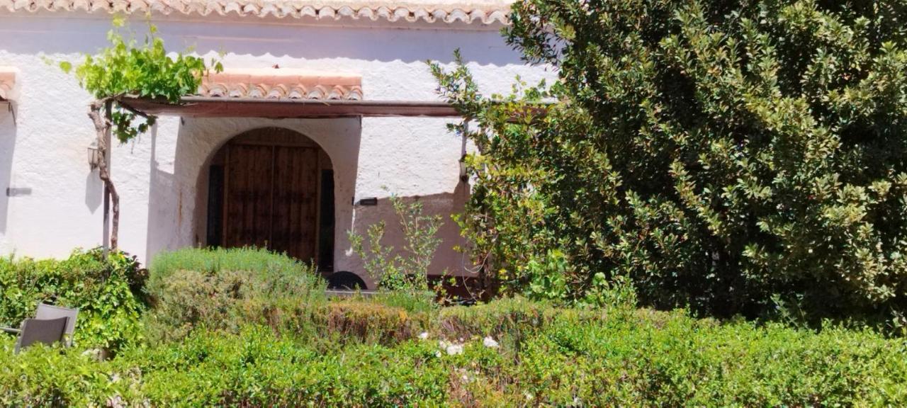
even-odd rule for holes
{"type": "Polygon", "coordinates": [[[228,145],[224,199],[225,247],[268,248],[271,241],[274,147],[228,145]]]}

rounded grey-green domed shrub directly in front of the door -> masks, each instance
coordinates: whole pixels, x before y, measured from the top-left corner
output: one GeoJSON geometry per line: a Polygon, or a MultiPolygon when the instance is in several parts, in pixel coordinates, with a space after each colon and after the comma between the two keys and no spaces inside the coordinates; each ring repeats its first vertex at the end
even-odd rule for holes
{"type": "Polygon", "coordinates": [[[314,267],[264,249],[185,248],[151,263],[147,322],[152,340],[179,338],[197,325],[237,331],[240,325],[308,320],[324,303],[314,267]]]}

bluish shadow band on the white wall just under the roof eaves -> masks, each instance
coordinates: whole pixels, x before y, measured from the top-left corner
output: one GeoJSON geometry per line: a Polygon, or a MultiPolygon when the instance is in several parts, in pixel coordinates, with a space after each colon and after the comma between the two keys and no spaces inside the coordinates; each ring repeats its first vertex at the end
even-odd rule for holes
{"type": "MultiPolygon", "coordinates": [[[[144,17],[133,16],[132,29],[144,34],[144,17]]],[[[171,51],[192,47],[195,53],[306,59],[355,58],[405,63],[453,62],[453,50],[483,65],[520,64],[520,53],[504,44],[496,30],[354,28],[296,24],[205,24],[156,21],[171,51]]],[[[6,51],[11,53],[95,53],[105,45],[110,24],[84,19],[13,19],[5,21],[6,51]],[[40,31],[40,36],[34,32],[40,31]],[[78,33],[78,35],[73,35],[78,33]]],[[[140,37],[141,38],[141,37],[140,37]]]]}

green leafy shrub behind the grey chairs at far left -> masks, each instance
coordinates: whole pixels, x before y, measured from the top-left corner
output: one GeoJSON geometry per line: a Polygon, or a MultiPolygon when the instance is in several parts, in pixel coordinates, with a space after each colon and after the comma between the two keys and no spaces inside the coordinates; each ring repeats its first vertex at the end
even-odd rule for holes
{"type": "Polygon", "coordinates": [[[18,327],[39,303],[78,307],[73,342],[116,351],[141,339],[141,285],[135,257],[73,251],[63,260],[0,259],[0,325],[18,327]]]}

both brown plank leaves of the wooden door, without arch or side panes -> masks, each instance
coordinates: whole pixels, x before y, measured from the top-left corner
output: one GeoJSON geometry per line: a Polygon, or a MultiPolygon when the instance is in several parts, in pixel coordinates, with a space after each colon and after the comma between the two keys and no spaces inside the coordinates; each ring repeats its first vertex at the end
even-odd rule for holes
{"type": "Polygon", "coordinates": [[[317,149],[261,144],[227,149],[224,246],[256,246],[314,260],[317,149]]]}

